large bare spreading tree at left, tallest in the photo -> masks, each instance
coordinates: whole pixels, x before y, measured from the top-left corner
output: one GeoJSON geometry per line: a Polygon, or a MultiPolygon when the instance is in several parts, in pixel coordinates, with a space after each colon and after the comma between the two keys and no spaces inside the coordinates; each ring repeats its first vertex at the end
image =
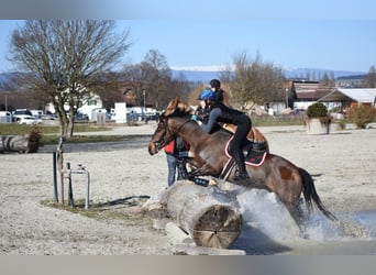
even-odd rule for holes
{"type": "Polygon", "coordinates": [[[128,31],[117,35],[110,20],[27,20],[12,33],[10,59],[52,101],[60,134],[73,136],[77,109],[90,97],[96,76],[128,51],[128,31]]]}

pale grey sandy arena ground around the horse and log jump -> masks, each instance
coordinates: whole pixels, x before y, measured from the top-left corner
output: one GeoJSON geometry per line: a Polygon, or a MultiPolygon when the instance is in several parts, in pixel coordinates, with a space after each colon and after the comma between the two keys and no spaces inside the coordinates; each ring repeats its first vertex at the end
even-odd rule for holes
{"type": "MultiPolygon", "coordinates": [[[[115,127],[107,134],[152,134],[155,125],[151,122],[115,127]]],[[[332,212],[376,210],[375,129],[346,129],[329,135],[308,135],[303,127],[259,130],[267,136],[274,154],[306,168],[314,177],[318,194],[332,212]]],[[[148,219],[134,213],[146,196],[154,196],[167,186],[165,154],[150,156],[144,145],[133,148],[104,145],[89,152],[85,144],[81,146],[82,151],[67,150],[64,162],[70,162],[73,167],[81,163],[90,172],[90,200],[95,208],[89,212],[95,212],[96,218],[46,206],[54,201],[51,147],[43,147],[36,154],[0,154],[0,254],[172,255],[181,252],[181,246],[165,230],[154,229],[148,219]]],[[[80,202],[85,198],[85,183],[84,175],[74,175],[74,196],[80,202]]],[[[365,253],[376,254],[375,242],[365,242],[365,253]]],[[[309,254],[305,249],[295,248],[275,253],[309,254]]],[[[321,252],[317,250],[317,253],[321,252]]]]}

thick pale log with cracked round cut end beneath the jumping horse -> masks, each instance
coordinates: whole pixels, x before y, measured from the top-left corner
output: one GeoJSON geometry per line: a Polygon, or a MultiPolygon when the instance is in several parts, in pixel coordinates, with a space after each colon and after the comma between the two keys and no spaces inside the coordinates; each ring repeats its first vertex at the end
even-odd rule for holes
{"type": "Polygon", "coordinates": [[[175,183],[144,206],[154,216],[168,216],[198,246],[226,249],[240,235],[242,216],[236,198],[217,186],[175,183]]]}

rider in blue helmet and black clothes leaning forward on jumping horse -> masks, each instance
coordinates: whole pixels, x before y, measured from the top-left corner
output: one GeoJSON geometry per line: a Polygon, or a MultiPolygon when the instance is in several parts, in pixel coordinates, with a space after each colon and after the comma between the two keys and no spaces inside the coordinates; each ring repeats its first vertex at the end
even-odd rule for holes
{"type": "Polygon", "coordinates": [[[201,128],[203,131],[210,133],[214,129],[217,122],[237,125],[229,145],[229,153],[234,158],[239,168],[234,182],[240,185],[250,185],[251,178],[245,169],[242,145],[245,143],[246,135],[252,128],[252,121],[244,112],[229,108],[224,106],[223,102],[218,101],[218,99],[220,99],[220,96],[215,95],[214,91],[207,95],[204,100],[210,108],[209,120],[207,124],[201,124],[201,128]]]}

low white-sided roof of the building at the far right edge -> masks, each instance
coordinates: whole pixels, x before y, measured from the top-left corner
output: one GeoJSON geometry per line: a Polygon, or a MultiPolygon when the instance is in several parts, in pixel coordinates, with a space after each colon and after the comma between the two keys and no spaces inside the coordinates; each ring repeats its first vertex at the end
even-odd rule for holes
{"type": "Polygon", "coordinates": [[[375,103],[376,89],[336,89],[318,101],[356,101],[360,103],[375,103]]]}

